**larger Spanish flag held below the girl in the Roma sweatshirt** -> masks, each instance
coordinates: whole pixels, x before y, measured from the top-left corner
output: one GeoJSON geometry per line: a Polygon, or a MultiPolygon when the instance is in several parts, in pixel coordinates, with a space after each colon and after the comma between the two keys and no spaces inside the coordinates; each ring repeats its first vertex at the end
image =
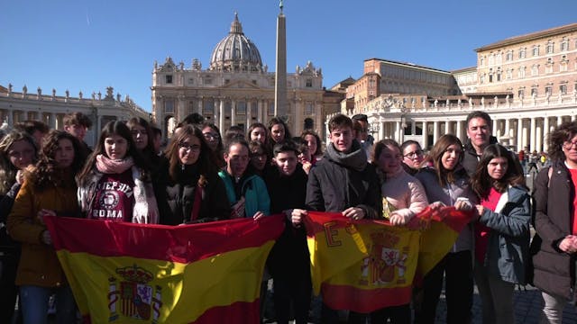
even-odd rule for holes
{"type": "Polygon", "coordinates": [[[46,217],[78,308],[92,323],[258,323],[282,215],[169,227],[46,217]]]}

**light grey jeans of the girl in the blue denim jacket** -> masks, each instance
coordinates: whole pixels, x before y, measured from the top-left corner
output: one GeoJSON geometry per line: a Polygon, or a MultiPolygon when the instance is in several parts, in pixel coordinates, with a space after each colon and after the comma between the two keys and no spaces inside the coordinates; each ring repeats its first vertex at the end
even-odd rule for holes
{"type": "Polygon", "coordinates": [[[513,309],[515,284],[488,275],[487,270],[479,263],[475,265],[474,275],[481,295],[483,323],[515,323],[513,309]]]}

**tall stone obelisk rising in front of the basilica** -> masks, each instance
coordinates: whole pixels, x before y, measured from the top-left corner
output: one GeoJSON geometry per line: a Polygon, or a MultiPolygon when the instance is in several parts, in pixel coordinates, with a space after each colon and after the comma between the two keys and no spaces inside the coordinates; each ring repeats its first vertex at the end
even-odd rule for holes
{"type": "Polygon", "coordinates": [[[287,27],[285,15],[282,13],[282,0],[279,4],[280,13],[277,18],[277,67],[274,80],[274,114],[288,120],[287,112],[287,27]]]}

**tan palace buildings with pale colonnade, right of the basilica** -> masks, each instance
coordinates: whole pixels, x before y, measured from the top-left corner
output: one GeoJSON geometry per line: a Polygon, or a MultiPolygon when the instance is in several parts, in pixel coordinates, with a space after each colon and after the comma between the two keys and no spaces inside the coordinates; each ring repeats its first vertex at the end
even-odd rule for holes
{"type": "Polygon", "coordinates": [[[554,126],[577,118],[577,23],[476,51],[476,66],[456,71],[367,59],[341,112],[367,114],[376,139],[415,139],[428,148],[445,133],[464,141],[467,114],[481,110],[501,144],[545,151],[554,126]]]}

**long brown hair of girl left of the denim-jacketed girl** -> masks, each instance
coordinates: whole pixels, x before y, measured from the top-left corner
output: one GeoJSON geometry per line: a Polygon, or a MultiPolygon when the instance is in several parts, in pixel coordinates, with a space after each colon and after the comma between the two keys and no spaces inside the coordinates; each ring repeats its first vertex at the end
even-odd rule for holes
{"type": "MultiPolygon", "coordinates": [[[[461,175],[463,167],[461,166],[461,161],[463,161],[463,152],[459,155],[459,163],[453,168],[453,170],[447,170],[443,166],[441,159],[443,158],[444,151],[451,145],[456,145],[463,149],[463,143],[461,139],[452,135],[445,134],[436,140],[435,146],[431,148],[429,158],[433,161],[433,166],[435,167],[435,173],[439,184],[442,186],[447,184],[453,184],[457,176],[461,175]]],[[[466,172],[464,172],[466,174],[466,172]]]]}

